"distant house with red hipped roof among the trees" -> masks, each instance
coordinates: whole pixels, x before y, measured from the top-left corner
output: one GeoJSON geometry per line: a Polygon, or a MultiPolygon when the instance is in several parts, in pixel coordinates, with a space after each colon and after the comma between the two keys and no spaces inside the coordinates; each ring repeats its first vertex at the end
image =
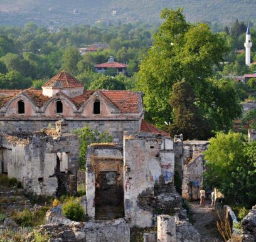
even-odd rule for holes
{"type": "Polygon", "coordinates": [[[105,73],[107,69],[114,68],[117,74],[122,73],[126,75],[127,66],[128,66],[127,64],[114,61],[114,57],[110,56],[107,62],[102,64],[97,64],[94,67],[97,73],[105,73]]]}

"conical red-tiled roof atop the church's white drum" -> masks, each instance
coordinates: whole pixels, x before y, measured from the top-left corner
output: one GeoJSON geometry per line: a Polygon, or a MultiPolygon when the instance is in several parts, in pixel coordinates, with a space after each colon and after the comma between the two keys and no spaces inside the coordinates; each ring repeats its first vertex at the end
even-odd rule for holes
{"type": "Polygon", "coordinates": [[[74,88],[83,87],[75,77],[67,73],[66,71],[60,71],[57,75],[53,76],[48,82],[43,85],[43,87],[53,87],[53,88],[74,88]]]}

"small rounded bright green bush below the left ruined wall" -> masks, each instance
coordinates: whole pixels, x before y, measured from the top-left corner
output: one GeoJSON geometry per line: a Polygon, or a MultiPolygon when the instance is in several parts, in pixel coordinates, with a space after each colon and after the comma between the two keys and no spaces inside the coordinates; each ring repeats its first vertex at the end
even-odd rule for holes
{"type": "Polygon", "coordinates": [[[66,218],[73,221],[85,220],[85,212],[83,211],[82,206],[73,199],[70,199],[70,201],[63,205],[62,211],[66,218]]]}

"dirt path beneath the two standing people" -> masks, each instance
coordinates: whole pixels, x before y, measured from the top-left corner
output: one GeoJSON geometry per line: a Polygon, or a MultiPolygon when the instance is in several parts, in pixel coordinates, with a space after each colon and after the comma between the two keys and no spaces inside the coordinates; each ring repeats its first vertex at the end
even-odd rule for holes
{"type": "Polygon", "coordinates": [[[189,203],[193,213],[193,225],[201,234],[201,242],[222,242],[218,230],[214,211],[211,211],[210,201],[206,201],[205,206],[200,206],[199,201],[189,203]]]}

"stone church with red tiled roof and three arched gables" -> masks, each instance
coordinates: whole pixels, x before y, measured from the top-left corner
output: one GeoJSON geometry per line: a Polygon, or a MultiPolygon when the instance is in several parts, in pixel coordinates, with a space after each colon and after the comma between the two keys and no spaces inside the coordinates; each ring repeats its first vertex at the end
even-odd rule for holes
{"type": "Polygon", "coordinates": [[[68,129],[88,124],[109,131],[122,143],[124,131],[146,131],[168,136],[144,121],[142,93],[84,90],[81,82],[61,71],[42,90],[0,90],[0,131],[34,132],[65,119],[68,129]]]}

